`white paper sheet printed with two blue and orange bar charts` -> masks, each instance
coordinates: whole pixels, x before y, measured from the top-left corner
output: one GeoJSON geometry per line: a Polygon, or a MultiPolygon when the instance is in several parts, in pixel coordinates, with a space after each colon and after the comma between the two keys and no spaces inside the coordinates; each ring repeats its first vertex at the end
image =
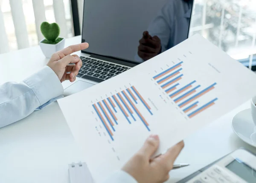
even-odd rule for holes
{"type": "Polygon", "coordinates": [[[58,100],[96,183],[160,137],[164,152],[256,95],[256,74],[200,35],[58,100]]]}

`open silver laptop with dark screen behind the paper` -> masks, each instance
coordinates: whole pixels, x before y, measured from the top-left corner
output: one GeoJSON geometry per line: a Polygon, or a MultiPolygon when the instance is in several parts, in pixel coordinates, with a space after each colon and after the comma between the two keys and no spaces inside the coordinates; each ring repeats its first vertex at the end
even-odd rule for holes
{"type": "Polygon", "coordinates": [[[194,0],[84,0],[83,66],[70,95],[115,77],[189,37],[194,0]]]}

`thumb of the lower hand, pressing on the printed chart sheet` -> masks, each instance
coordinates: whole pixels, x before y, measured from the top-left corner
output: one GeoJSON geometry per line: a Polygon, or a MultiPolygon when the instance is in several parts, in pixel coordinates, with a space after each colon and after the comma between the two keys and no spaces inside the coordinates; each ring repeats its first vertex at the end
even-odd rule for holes
{"type": "Polygon", "coordinates": [[[157,151],[159,146],[158,135],[150,135],[145,141],[143,147],[140,149],[139,153],[144,154],[148,159],[157,151]]]}

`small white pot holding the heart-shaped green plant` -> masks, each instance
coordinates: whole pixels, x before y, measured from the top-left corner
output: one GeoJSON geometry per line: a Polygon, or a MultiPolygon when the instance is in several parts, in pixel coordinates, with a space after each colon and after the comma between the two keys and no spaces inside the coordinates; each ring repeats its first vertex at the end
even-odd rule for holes
{"type": "Polygon", "coordinates": [[[39,45],[41,47],[41,50],[44,53],[44,56],[47,58],[52,57],[52,54],[54,54],[57,51],[60,51],[64,49],[65,46],[65,38],[63,38],[60,42],[57,44],[47,44],[47,43],[41,43],[43,40],[40,41],[39,45]]]}

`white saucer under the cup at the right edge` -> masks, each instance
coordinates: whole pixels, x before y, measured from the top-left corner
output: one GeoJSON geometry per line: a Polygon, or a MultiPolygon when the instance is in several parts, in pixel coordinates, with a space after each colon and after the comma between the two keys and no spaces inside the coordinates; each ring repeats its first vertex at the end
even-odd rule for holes
{"type": "Polygon", "coordinates": [[[256,128],[250,109],[245,109],[237,113],[232,120],[231,126],[241,140],[256,147],[256,128]]]}

